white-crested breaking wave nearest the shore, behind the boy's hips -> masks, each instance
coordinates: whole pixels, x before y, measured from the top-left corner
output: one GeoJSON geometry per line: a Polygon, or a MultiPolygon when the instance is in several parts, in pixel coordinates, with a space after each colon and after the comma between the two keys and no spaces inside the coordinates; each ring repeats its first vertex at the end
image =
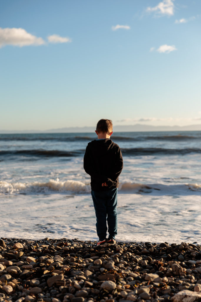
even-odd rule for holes
{"type": "MultiPolygon", "coordinates": [[[[163,184],[140,184],[133,182],[122,182],[119,184],[121,193],[133,194],[150,194],[155,193],[159,195],[164,194],[189,194],[190,191],[201,191],[201,185],[198,184],[177,184],[177,185],[163,185],[163,184]]],[[[89,183],[84,183],[76,180],[60,181],[50,179],[48,182],[0,182],[0,194],[50,194],[54,192],[76,194],[90,193],[91,187],[89,183]]],[[[193,193],[190,193],[193,194],[193,193]]]]}

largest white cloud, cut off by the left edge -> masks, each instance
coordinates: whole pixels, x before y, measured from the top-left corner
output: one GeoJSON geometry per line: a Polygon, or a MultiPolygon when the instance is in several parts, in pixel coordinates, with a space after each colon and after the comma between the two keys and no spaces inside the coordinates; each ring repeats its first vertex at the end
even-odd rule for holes
{"type": "Polygon", "coordinates": [[[42,38],[27,33],[23,28],[0,27],[0,48],[6,45],[23,47],[42,44],[45,44],[45,41],[42,38]]]}

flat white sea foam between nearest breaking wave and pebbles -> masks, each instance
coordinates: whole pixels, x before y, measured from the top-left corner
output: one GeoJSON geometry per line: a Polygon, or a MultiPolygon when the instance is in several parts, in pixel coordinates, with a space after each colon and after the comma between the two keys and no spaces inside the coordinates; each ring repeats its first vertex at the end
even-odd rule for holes
{"type": "MultiPolygon", "coordinates": [[[[123,242],[201,243],[200,195],[118,194],[118,235],[123,242]]],[[[90,194],[6,195],[0,237],[96,240],[90,194]]]]}

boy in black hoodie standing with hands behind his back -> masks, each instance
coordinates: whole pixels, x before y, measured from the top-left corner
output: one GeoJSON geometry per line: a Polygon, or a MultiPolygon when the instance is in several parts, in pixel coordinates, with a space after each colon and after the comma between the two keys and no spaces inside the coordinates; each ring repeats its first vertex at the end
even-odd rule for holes
{"type": "Polygon", "coordinates": [[[96,246],[100,246],[106,242],[116,243],[118,177],[123,169],[123,158],[119,146],[110,140],[113,133],[111,120],[99,120],[95,132],[98,139],[88,143],[86,147],[84,170],[91,176],[91,195],[99,237],[96,246]]]}

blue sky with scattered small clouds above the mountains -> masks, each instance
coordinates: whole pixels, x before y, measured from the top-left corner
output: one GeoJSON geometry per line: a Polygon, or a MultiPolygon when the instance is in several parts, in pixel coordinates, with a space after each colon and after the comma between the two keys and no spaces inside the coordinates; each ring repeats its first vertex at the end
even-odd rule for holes
{"type": "Polygon", "coordinates": [[[0,130],[201,124],[201,2],[9,0],[0,130]]]}

